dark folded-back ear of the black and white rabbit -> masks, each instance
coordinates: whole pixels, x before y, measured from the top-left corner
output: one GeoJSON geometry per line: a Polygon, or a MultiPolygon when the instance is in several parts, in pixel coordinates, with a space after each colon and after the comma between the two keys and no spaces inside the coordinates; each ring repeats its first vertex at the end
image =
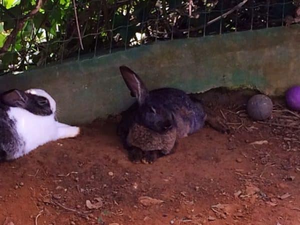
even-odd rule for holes
{"type": "Polygon", "coordinates": [[[10,107],[25,108],[28,97],[24,91],[12,89],[1,94],[0,100],[10,107]]]}

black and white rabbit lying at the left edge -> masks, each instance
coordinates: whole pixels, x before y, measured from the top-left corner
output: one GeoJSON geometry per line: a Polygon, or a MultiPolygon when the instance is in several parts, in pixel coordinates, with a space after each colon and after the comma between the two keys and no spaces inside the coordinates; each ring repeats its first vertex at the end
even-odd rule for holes
{"type": "Polygon", "coordinates": [[[80,129],[55,120],[56,102],[42,89],[0,95],[0,159],[15,159],[39,145],[75,137],[80,129]]]}

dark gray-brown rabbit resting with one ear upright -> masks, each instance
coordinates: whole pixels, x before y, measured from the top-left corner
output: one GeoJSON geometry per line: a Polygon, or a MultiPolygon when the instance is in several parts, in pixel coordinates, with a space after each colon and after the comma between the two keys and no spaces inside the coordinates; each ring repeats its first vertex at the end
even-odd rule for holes
{"type": "Polygon", "coordinates": [[[203,127],[206,114],[202,105],[184,91],[168,87],[148,91],[130,68],[119,68],[131,96],[137,99],[122,113],[118,125],[129,160],[151,163],[171,153],[177,138],[203,127]]]}

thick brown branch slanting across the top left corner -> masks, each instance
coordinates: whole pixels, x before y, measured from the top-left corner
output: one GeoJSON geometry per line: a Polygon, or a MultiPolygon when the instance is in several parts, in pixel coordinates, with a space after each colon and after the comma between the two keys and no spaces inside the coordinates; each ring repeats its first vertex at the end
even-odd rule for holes
{"type": "Polygon", "coordinates": [[[26,19],[32,17],[34,14],[36,14],[39,9],[42,6],[42,0],[36,0],[35,8],[33,8],[30,12],[28,12],[26,15],[24,15],[22,18],[17,20],[17,23],[13,30],[10,32],[10,34],[6,37],[6,40],[3,44],[3,46],[0,48],[0,56],[4,54],[9,46],[13,43],[15,40],[16,34],[23,28],[24,23],[26,22],[26,19]]]}

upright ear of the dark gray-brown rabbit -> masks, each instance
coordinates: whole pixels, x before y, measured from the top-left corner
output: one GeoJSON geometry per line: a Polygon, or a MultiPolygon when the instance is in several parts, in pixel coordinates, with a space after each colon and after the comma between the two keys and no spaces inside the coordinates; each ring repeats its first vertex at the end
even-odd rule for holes
{"type": "Polygon", "coordinates": [[[136,97],[139,104],[144,103],[148,90],[135,72],[127,66],[120,66],[121,75],[130,90],[131,96],[136,97]]]}

